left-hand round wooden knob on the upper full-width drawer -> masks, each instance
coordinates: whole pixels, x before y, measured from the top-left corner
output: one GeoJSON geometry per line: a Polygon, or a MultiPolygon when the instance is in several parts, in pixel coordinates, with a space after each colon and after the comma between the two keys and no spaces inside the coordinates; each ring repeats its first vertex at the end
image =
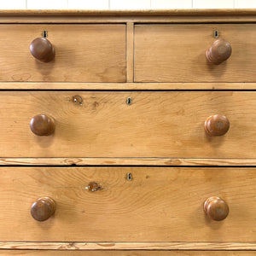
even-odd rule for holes
{"type": "Polygon", "coordinates": [[[30,121],[31,131],[38,136],[49,136],[55,131],[55,119],[46,114],[38,114],[30,121]]]}

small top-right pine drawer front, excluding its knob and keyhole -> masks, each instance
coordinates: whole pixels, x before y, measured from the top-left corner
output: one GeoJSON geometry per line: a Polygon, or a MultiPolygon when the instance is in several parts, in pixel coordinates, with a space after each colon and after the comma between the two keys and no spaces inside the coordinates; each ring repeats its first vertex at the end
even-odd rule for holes
{"type": "Polygon", "coordinates": [[[256,25],[136,25],[136,82],[255,82],[256,25]],[[206,51],[219,38],[232,47],[230,59],[214,65],[206,51]]]}

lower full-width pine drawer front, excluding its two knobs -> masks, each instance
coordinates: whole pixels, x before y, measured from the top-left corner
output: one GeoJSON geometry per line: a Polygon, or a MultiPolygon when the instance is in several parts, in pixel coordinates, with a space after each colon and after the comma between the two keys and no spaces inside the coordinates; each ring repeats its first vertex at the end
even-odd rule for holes
{"type": "Polygon", "coordinates": [[[256,168],[1,167],[0,175],[0,241],[255,242],[256,168]],[[45,196],[55,214],[39,222],[31,206],[45,196]],[[203,210],[212,196],[230,208],[222,221],[203,210]]]}

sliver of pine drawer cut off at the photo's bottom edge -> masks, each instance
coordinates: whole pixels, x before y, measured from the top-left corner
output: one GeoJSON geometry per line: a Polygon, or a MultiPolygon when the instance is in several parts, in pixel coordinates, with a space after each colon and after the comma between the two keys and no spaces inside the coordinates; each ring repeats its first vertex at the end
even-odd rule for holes
{"type": "Polygon", "coordinates": [[[175,255],[181,255],[181,256],[218,256],[218,255],[227,255],[227,256],[234,256],[234,255],[242,255],[242,256],[251,256],[255,255],[255,252],[178,252],[178,251],[172,251],[172,252],[163,252],[163,251],[101,251],[101,252],[96,252],[96,251],[90,251],[90,252],[70,252],[70,251],[32,251],[32,250],[3,250],[0,251],[0,255],[44,255],[44,256],[49,256],[49,255],[63,255],[63,256],[175,256],[175,255]]]}

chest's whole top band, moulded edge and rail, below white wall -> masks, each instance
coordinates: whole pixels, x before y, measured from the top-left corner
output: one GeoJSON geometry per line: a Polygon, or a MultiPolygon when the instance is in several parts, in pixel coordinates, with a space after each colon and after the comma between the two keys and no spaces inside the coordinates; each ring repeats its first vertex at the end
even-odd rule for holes
{"type": "Polygon", "coordinates": [[[256,9],[1,10],[0,22],[256,22],[256,9]]]}

